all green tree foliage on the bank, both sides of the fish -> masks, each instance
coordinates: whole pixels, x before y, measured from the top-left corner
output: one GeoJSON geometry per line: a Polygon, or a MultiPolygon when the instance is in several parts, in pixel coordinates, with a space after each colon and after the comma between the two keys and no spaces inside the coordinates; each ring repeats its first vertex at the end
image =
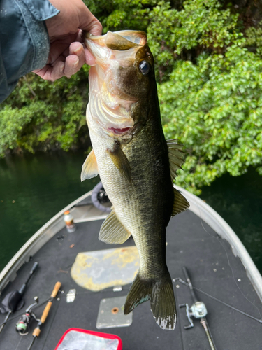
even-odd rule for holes
{"type": "MultiPolygon", "coordinates": [[[[89,0],[104,32],[147,31],[166,138],[189,155],[177,183],[200,193],[218,176],[262,174],[262,25],[218,0],[89,0]],[[243,18],[245,20],[243,20],[243,18]]],[[[0,107],[0,153],[88,140],[88,68],[54,83],[33,74],[0,107]]]]}

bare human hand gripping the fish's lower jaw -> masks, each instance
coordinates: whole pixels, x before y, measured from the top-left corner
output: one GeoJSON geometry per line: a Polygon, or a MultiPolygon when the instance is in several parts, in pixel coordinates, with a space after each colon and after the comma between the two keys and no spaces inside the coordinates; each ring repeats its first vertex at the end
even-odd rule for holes
{"type": "Polygon", "coordinates": [[[82,0],[49,0],[60,13],[45,21],[50,39],[48,63],[34,73],[45,80],[71,78],[84,63],[95,64],[92,54],[82,45],[82,30],[101,35],[102,25],[82,0]]]}

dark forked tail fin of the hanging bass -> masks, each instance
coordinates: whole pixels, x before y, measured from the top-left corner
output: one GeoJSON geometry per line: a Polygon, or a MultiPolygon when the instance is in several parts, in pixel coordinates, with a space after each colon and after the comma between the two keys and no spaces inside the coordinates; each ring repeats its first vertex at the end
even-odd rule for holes
{"type": "Polygon", "coordinates": [[[175,297],[169,273],[159,280],[146,280],[141,279],[138,272],[126,297],[124,314],[129,314],[138,304],[149,299],[152,314],[159,327],[174,330],[176,323],[175,297]]]}

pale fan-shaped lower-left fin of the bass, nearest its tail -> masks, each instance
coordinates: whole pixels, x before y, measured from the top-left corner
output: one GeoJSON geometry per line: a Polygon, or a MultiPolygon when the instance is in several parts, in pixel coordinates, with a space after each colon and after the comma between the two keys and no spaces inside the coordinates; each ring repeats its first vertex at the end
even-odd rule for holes
{"type": "Polygon", "coordinates": [[[99,239],[108,244],[122,244],[129,239],[130,235],[130,232],[117,218],[115,210],[112,209],[101,226],[99,239]]]}

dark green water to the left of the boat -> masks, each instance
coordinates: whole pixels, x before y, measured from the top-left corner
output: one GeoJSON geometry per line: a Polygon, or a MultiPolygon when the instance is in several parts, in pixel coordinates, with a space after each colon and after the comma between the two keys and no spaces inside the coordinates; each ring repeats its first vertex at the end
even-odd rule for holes
{"type": "Polygon", "coordinates": [[[0,160],[0,271],[58,211],[99,177],[80,181],[84,153],[37,153],[0,160]]]}

